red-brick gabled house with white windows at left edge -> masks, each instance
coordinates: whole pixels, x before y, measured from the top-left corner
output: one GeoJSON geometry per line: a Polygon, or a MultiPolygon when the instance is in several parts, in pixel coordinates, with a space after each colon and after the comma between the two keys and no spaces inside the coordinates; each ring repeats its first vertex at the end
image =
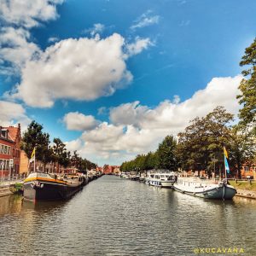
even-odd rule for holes
{"type": "Polygon", "coordinates": [[[0,177],[20,172],[20,124],[0,126],[0,177]]]}

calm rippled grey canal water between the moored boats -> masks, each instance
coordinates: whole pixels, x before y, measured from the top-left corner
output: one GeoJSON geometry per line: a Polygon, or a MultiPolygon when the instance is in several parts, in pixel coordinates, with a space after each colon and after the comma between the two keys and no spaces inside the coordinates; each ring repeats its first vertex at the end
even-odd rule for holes
{"type": "Polygon", "coordinates": [[[112,176],[65,202],[0,198],[0,228],[0,255],[256,255],[256,201],[207,201],[112,176]]]}

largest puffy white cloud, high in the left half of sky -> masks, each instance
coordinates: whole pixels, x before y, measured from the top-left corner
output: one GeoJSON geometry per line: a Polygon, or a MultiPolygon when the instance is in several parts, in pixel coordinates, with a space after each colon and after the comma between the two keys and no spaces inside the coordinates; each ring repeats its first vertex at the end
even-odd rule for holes
{"type": "Polygon", "coordinates": [[[114,33],[96,38],[69,38],[26,61],[15,97],[27,105],[52,107],[56,99],[95,100],[131,82],[123,53],[124,38],[114,33]],[[40,95],[40,97],[38,97],[40,95]]]}

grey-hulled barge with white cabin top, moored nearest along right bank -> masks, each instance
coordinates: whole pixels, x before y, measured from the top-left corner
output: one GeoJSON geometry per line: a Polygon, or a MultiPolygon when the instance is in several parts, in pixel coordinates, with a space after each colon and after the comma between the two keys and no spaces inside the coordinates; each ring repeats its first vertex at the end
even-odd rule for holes
{"type": "Polygon", "coordinates": [[[232,199],[236,195],[236,189],[225,180],[212,183],[200,180],[198,177],[177,177],[177,183],[173,184],[173,189],[207,199],[232,199]]]}

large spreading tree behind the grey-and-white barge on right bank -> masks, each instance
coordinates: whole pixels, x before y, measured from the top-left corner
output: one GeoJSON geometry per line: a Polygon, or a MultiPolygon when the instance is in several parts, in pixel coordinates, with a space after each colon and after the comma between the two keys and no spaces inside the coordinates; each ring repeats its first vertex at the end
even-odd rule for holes
{"type": "Polygon", "coordinates": [[[223,107],[214,108],[206,117],[191,121],[184,132],[178,134],[177,157],[184,170],[207,170],[213,166],[223,168],[223,146],[229,149],[230,128],[233,119],[223,107]],[[214,160],[218,160],[214,165],[214,160]]]}

